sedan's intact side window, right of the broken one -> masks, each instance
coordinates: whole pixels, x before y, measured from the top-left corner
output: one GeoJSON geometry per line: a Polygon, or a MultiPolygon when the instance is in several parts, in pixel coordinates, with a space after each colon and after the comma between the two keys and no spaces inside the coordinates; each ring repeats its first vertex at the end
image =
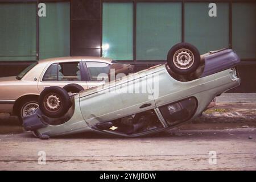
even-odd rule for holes
{"type": "Polygon", "coordinates": [[[108,75],[110,69],[109,64],[100,62],[86,62],[86,66],[88,68],[91,81],[102,81],[98,79],[98,75],[101,73],[108,75]]]}

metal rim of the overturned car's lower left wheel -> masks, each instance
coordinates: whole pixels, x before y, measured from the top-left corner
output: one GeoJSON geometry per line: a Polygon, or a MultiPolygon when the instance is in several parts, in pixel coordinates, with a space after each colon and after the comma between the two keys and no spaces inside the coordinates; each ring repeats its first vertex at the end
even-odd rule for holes
{"type": "Polygon", "coordinates": [[[55,93],[50,93],[44,98],[44,106],[50,112],[60,110],[61,105],[60,96],[55,93]]]}

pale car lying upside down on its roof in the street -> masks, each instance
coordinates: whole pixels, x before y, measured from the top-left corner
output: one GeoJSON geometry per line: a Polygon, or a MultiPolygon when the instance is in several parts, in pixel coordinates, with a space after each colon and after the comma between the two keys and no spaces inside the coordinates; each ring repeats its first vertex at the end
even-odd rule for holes
{"type": "Polygon", "coordinates": [[[188,43],[170,49],[167,63],[123,76],[75,95],[43,90],[39,109],[23,118],[41,138],[85,131],[139,137],[191,121],[226,90],[240,85],[232,49],[205,55],[188,43]]]}

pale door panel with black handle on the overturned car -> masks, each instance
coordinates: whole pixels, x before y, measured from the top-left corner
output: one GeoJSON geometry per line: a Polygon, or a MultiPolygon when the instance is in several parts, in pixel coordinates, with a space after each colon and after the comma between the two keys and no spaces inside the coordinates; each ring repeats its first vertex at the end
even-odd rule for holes
{"type": "Polygon", "coordinates": [[[100,86],[90,92],[80,93],[80,108],[85,122],[94,126],[98,122],[112,121],[127,115],[155,108],[152,92],[143,75],[126,76],[100,86]]]}

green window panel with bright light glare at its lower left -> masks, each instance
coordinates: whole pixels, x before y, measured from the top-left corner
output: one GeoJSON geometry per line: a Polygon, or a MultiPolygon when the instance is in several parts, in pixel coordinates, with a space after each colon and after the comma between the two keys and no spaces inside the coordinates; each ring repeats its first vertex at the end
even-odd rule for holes
{"type": "Polygon", "coordinates": [[[133,60],[133,3],[103,3],[102,56],[133,60]]]}

